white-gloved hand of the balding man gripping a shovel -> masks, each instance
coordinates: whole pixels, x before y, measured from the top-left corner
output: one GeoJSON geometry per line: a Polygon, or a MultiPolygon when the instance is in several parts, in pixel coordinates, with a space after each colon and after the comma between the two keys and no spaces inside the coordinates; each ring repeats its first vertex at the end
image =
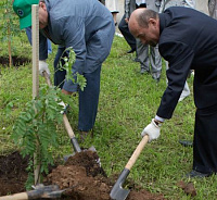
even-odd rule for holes
{"type": "Polygon", "coordinates": [[[141,136],[143,137],[144,135],[149,135],[149,142],[151,142],[153,139],[157,139],[161,130],[159,124],[157,125],[155,120],[152,118],[152,122],[142,130],[141,136]]]}

